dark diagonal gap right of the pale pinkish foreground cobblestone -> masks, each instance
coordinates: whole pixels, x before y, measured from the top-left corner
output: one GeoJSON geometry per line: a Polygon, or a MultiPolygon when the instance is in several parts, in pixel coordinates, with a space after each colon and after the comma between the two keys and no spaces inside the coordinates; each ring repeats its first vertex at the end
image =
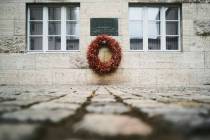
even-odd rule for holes
{"type": "MultiPolygon", "coordinates": [[[[153,127],[153,133],[148,137],[145,137],[144,140],[186,140],[186,138],[183,137],[183,133],[181,132],[181,130],[179,131],[179,129],[175,128],[175,126],[172,123],[161,119],[161,117],[149,118],[146,113],[143,113],[138,108],[125,103],[120,96],[115,95],[107,88],[106,90],[115,97],[117,102],[129,106],[131,108],[131,111],[122,113],[122,115],[128,115],[141,119],[153,127]]],[[[139,137],[130,138],[130,140],[137,139],[139,139],[139,137]]]]}

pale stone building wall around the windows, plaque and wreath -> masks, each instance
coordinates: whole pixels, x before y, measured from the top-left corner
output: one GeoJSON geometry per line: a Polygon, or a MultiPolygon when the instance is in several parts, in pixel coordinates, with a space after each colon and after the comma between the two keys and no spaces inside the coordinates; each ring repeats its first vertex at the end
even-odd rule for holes
{"type": "Polygon", "coordinates": [[[0,0],[0,84],[124,84],[186,87],[209,85],[210,1],[0,0]],[[30,6],[72,4],[79,6],[79,49],[30,51],[28,49],[30,6]],[[134,7],[177,5],[180,11],[179,49],[132,50],[129,41],[131,5],[134,7]],[[91,40],[95,38],[90,35],[91,18],[118,19],[118,36],[114,38],[123,49],[123,59],[118,70],[112,74],[99,76],[88,67],[86,51],[91,40]]]}

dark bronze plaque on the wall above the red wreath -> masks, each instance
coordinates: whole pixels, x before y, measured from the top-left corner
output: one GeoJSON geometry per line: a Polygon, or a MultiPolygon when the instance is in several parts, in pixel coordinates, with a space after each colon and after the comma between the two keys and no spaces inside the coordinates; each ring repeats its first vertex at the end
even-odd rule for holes
{"type": "Polygon", "coordinates": [[[90,35],[97,36],[107,34],[118,36],[118,19],[117,18],[91,18],[90,35]]]}

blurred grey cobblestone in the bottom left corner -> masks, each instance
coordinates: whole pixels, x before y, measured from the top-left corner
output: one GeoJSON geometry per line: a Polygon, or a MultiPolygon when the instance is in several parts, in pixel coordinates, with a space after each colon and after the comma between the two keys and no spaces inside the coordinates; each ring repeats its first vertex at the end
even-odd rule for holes
{"type": "Polygon", "coordinates": [[[37,127],[32,124],[1,124],[0,140],[33,139],[37,127]]]}

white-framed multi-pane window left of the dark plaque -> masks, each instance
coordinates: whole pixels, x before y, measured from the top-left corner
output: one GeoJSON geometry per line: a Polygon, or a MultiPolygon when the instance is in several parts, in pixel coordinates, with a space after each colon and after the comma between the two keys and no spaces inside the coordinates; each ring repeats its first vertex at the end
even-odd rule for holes
{"type": "Polygon", "coordinates": [[[79,50],[79,6],[29,6],[28,51],[79,50]]]}

